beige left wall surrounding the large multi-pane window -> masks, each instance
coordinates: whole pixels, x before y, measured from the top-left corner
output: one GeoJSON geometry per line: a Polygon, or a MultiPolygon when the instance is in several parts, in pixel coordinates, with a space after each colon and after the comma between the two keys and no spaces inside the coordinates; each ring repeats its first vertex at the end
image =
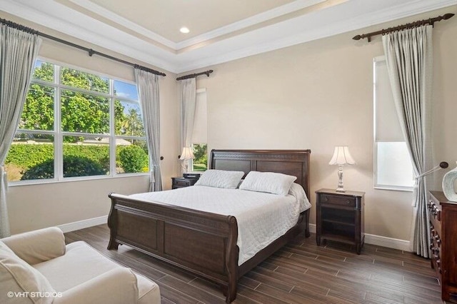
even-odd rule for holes
{"type": "MultiPolygon", "coordinates": [[[[147,64],[130,59],[112,51],[101,49],[51,29],[43,28],[15,16],[0,14],[3,19],[30,26],[46,34],[96,49],[102,53],[116,56],[129,62],[147,64]]],[[[43,39],[39,52],[41,58],[81,67],[108,76],[134,81],[134,69],[100,56],[89,57],[84,51],[43,39]]],[[[154,66],[148,66],[157,69],[154,66]]],[[[160,69],[159,69],[160,70],[160,69]]],[[[176,75],[164,71],[166,77],[160,78],[161,111],[161,161],[164,188],[171,188],[171,176],[179,174],[179,106],[176,75]]],[[[90,181],[46,183],[33,186],[10,186],[7,193],[11,233],[20,233],[49,226],[56,226],[90,218],[106,216],[109,213],[110,192],[130,194],[147,191],[149,176],[98,179],[90,181]]]]}

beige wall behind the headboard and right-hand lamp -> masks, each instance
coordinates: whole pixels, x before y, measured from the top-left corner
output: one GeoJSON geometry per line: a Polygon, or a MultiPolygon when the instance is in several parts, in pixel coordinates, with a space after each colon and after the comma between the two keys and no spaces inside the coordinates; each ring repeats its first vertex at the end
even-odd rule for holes
{"type": "MultiPolygon", "coordinates": [[[[336,188],[333,147],[348,145],[357,164],[344,168],[346,189],[366,192],[366,233],[409,240],[411,192],[373,189],[373,58],[381,37],[367,31],[437,16],[451,9],[291,46],[226,64],[197,86],[207,89],[209,148],[311,149],[311,223],[318,188],[336,188]]],[[[457,17],[436,24],[433,140],[437,161],[457,160],[457,17]]],[[[440,188],[443,173],[433,188],[440,188]]]]}

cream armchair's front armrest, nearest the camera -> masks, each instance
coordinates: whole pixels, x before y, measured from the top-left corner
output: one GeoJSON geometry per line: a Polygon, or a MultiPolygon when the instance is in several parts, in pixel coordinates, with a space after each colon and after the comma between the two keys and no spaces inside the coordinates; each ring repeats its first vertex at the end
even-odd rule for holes
{"type": "Polygon", "coordinates": [[[130,268],[116,268],[91,278],[54,298],[53,304],[138,303],[136,275],[130,268]]]}

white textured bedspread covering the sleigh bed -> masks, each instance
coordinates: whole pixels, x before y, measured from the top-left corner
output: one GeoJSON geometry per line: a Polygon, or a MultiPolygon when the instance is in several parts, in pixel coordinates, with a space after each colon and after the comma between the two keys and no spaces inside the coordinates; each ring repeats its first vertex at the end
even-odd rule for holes
{"type": "Polygon", "coordinates": [[[297,193],[278,196],[207,186],[131,195],[132,198],[144,201],[235,216],[238,223],[237,245],[240,248],[238,265],[252,258],[258,251],[295,226],[300,212],[311,208],[308,198],[305,195],[300,196],[297,193]]]}

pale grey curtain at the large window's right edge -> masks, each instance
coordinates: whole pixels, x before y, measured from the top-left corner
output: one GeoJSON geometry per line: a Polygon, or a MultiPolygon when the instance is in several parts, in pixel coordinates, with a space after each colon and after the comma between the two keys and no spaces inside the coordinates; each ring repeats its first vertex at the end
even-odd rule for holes
{"type": "Polygon", "coordinates": [[[135,69],[135,80],[149,149],[149,166],[151,167],[149,191],[161,191],[159,76],[135,69]]]}

